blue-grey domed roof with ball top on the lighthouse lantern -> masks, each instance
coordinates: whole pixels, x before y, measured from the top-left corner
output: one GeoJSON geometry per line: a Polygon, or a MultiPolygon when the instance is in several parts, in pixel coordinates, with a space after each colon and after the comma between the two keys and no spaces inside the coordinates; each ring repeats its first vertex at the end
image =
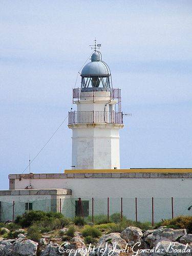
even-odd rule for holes
{"type": "Polygon", "coordinates": [[[95,51],[91,56],[91,62],[87,63],[81,71],[81,76],[110,76],[110,69],[103,61],[100,60],[101,56],[98,51],[95,51]]]}

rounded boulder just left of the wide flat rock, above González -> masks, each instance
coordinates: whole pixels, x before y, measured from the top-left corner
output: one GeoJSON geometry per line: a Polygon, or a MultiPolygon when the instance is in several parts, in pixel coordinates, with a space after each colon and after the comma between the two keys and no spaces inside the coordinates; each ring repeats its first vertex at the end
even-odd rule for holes
{"type": "Polygon", "coordinates": [[[121,232],[120,236],[126,240],[129,245],[134,245],[135,243],[140,242],[143,233],[138,227],[127,227],[121,232]]]}

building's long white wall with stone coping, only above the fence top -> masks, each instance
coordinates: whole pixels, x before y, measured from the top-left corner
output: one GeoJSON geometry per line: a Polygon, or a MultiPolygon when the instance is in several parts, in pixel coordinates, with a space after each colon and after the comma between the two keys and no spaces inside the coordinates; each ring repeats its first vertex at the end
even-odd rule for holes
{"type": "MultiPolygon", "coordinates": [[[[35,189],[47,187],[50,189],[69,188],[72,189],[72,195],[75,198],[87,197],[88,195],[96,198],[190,198],[192,195],[192,179],[189,178],[189,175],[192,178],[192,174],[169,174],[169,177],[172,176],[173,178],[168,178],[167,174],[145,173],[61,174],[63,178],[59,178],[59,174],[48,174],[47,177],[50,178],[33,178],[31,184],[35,189]],[[113,178],[111,178],[112,176],[113,178]],[[127,178],[129,176],[130,178],[127,178]]],[[[37,177],[40,177],[40,175],[37,177]]],[[[29,179],[20,181],[15,179],[15,189],[24,189],[28,185],[29,179]]]]}

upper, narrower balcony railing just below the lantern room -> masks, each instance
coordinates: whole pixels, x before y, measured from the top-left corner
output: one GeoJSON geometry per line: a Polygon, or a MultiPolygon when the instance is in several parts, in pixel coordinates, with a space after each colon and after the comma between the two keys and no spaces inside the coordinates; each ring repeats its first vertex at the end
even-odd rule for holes
{"type": "Polygon", "coordinates": [[[73,89],[73,100],[87,97],[109,97],[111,99],[121,98],[121,89],[113,88],[76,88],[73,89]]]}

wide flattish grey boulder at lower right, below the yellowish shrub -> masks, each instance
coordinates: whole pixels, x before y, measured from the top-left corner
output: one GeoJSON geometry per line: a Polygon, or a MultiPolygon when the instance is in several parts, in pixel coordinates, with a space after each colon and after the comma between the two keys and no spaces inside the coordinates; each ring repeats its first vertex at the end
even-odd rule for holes
{"type": "Polygon", "coordinates": [[[149,234],[144,240],[150,244],[150,247],[152,248],[161,241],[175,242],[179,237],[184,236],[186,233],[186,229],[162,228],[154,230],[153,233],[149,234]]]}

